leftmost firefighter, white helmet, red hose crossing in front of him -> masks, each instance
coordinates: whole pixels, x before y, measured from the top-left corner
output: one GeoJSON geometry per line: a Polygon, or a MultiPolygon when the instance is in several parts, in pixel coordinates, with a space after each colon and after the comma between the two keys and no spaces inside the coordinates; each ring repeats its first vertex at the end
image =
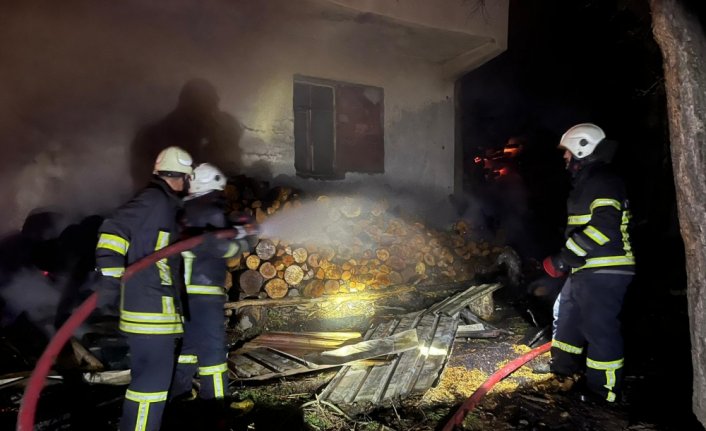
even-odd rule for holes
{"type": "Polygon", "coordinates": [[[96,266],[102,274],[100,302],[120,289],[120,330],[130,349],[131,381],[120,429],[158,430],[183,333],[178,295],[179,257],[162,259],[120,283],[125,268],[175,242],[179,197],[192,173],[191,156],[179,147],[164,149],[154,176],[142,191],[108,217],[99,229],[96,266]]]}

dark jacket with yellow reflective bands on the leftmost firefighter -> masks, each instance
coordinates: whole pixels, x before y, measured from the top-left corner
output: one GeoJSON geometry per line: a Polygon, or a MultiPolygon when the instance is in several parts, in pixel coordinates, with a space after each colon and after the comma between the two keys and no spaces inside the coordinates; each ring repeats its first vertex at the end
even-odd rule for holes
{"type": "MultiPolygon", "coordinates": [[[[181,199],[154,177],[132,200],[100,227],[97,269],[122,277],[125,268],[177,240],[181,199]]],[[[183,332],[176,255],[162,259],[122,283],[120,329],[128,334],[172,335],[183,332]]]]}

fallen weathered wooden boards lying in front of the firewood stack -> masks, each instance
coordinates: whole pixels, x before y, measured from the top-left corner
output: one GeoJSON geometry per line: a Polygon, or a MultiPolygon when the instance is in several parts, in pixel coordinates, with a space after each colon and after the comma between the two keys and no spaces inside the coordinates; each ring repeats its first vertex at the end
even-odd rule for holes
{"type": "MultiPolygon", "coordinates": [[[[446,365],[459,311],[500,287],[471,286],[426,310],[373,325],[362,338],[356,332],[265,333],[231,354],[231,373],[238,380],[265,380],[344,364],[319,398],[350,413],[423,393],[446,365]]],[[[478,324],[463,329],[496,330],[478,324]]]]}

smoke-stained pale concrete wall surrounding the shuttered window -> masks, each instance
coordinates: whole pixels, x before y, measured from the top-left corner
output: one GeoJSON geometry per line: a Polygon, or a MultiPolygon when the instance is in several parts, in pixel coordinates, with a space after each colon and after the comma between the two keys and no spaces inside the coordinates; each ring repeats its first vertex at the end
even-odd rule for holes
{"type": "Polygon", "coordinates": [[[385,174],[360,177],[452,191],[453,82],[439,60],[479,45],[477,37],[323,0],[0,8],[0,232],[39,205],[85,214],[126,199],[130,142],[174,109],[193,77],[213,83],[221,109],[242,126],[244,171],[265,177],[294,175],[294,74],[382,87],[385,174]],[[405,46],[408,38],[428,47],[405,46]]]}

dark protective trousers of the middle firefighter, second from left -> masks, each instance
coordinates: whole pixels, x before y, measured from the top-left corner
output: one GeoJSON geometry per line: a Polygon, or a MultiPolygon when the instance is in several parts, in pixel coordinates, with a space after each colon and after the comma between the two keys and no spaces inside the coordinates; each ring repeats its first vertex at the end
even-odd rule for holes
{"type": "Polygon", "coordinates": [[[224,295],[189,294],[189,318],[184,322],[184,342],[174,373],[174,396],[191,391],[198,370],[199,397],[224,398],[228,389],[224,295]]]}

